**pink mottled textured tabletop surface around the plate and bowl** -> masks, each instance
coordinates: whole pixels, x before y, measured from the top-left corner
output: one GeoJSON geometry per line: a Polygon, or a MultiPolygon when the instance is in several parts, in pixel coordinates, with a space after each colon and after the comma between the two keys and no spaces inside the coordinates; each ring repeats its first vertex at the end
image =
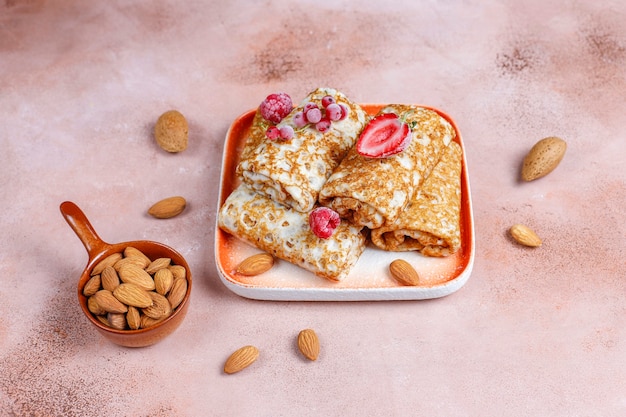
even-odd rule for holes
{"type": "Polygon", "coordinates": [[[561,2],[0,4],[0,415],[623,416],[626,414],[626,5],[561,2]],[[415,302],[286,303],[229,292],[213,260],[223,139],[269,93],[332,86],[424,103],[464,137],[472,277],[415,302]],[[189,148],[151,130],[176,108],[189,148]],[[556,135],[561,165],[518,180],[556,135]],[[147,208],[170,195],[178,218],[147,208]],[[187,318],[163,342],[110,344],[75,294],[80,205],[111,242],[180,251],[187,318]],[[539,249],[506,230],[526,223],[539,249]],[[314,328],[316,362],[296,350],[314,328]],[[235,349],[261,355],[222,373],[235,349]],[[106,411],[104,411],[106,410],[106,411]]]}

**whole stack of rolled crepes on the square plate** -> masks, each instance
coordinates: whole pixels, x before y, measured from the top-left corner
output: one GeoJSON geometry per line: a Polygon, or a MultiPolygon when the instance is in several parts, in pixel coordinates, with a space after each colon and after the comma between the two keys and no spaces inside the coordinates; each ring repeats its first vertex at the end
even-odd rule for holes
{"type": "Polygon", "coordinates": [[[447,256],[460,247],[462,150],[456,132],[433,110],[389,105],[411,126],[411,142],[387,158],[367,158],[356,140],[369,121],[360,106],[334,89],[317,89],[280,124],[309,101],[325,95],[350,108],[347,119],[321,133],[296,129],[288,141],[265,137],[269,123],[257,111],[242,159],[240,184],[218,213],[219,227],[273,256],[315,275],[344,279],[365,250],[368,234],[385,251],[447,256]],[[317,237],[309,213],[319,205],[342,220],[328,239],[317,237]]]}

